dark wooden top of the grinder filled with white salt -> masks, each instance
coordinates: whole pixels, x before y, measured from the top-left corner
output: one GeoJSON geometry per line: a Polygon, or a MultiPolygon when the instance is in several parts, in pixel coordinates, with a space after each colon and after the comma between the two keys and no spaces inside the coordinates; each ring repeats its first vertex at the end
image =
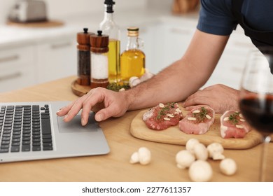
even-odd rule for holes
{"type": "Polygon", "coordinates": [[[91,52],[108,52],[109,36],[102,34],[102,31],[97,31],[97,33],[90,36],[91,52]]]}

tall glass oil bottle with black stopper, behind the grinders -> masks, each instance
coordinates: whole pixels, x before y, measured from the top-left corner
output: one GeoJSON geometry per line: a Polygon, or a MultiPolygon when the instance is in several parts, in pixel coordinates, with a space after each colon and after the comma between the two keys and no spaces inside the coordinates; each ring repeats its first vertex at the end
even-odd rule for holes
{"type": "Polygon", "coordinates": [[[99,29],[109,35],[109,82],[120,81],[120,29],[113,20],[113,0],[104,1],[104,20],[99,29]]]}

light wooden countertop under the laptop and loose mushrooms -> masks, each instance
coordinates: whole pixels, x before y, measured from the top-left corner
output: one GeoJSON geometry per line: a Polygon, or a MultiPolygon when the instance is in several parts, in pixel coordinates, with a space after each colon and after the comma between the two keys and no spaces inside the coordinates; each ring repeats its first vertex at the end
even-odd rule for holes
{"type": "MultiPolygon", "coordinates": [[[[0,94],[0,102],[73,100],[71,92],[75,76],[0,94]]],[[[35,160],[0,164],[0,181],[86,182],[86,181],[190,181],[188,170],[176,167],[176,153],[185,146],[160,144],[132,137],[130,123],[139,111],[100,123],[111,152],[108,155],[54,160],[35,160]],[[150,165],[132,165],[130,156],[141,146],[151,150],[150,165]]],[[[261,145],[247,150],[225,150],[224,155],[237,162],[237,174],[224,176],[219,161],[209,160],[214,171],[211,181],[258,181],[261,145]]],[[[273,144],[267,153],[267,181],[273,181],[273,144]]]]}

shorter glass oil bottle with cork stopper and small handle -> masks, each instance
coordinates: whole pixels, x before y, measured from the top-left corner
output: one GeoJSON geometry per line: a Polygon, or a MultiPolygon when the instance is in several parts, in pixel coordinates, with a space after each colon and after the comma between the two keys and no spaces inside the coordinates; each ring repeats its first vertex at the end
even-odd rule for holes
{"type": "Polygon", "coordinates": [[[145,72],[145,54],[140,50],[141,39],[139,28],[127,28],[127,48],[120,55],[120,77],[125,83],[129,83],[132,76],[141,77],[145,72]]]}

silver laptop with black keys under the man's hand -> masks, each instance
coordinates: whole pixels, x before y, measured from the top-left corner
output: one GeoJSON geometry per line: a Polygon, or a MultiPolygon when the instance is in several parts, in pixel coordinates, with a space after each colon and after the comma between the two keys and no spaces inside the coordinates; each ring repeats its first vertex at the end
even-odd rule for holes
{"type": "Polygon", "coordinates": [[[80,113],[69,123],[56,115],[67,104],[0,103],[0,163],[109,153],[109,145],[93,112],[84,127],[80,124],[80,113]]]}

